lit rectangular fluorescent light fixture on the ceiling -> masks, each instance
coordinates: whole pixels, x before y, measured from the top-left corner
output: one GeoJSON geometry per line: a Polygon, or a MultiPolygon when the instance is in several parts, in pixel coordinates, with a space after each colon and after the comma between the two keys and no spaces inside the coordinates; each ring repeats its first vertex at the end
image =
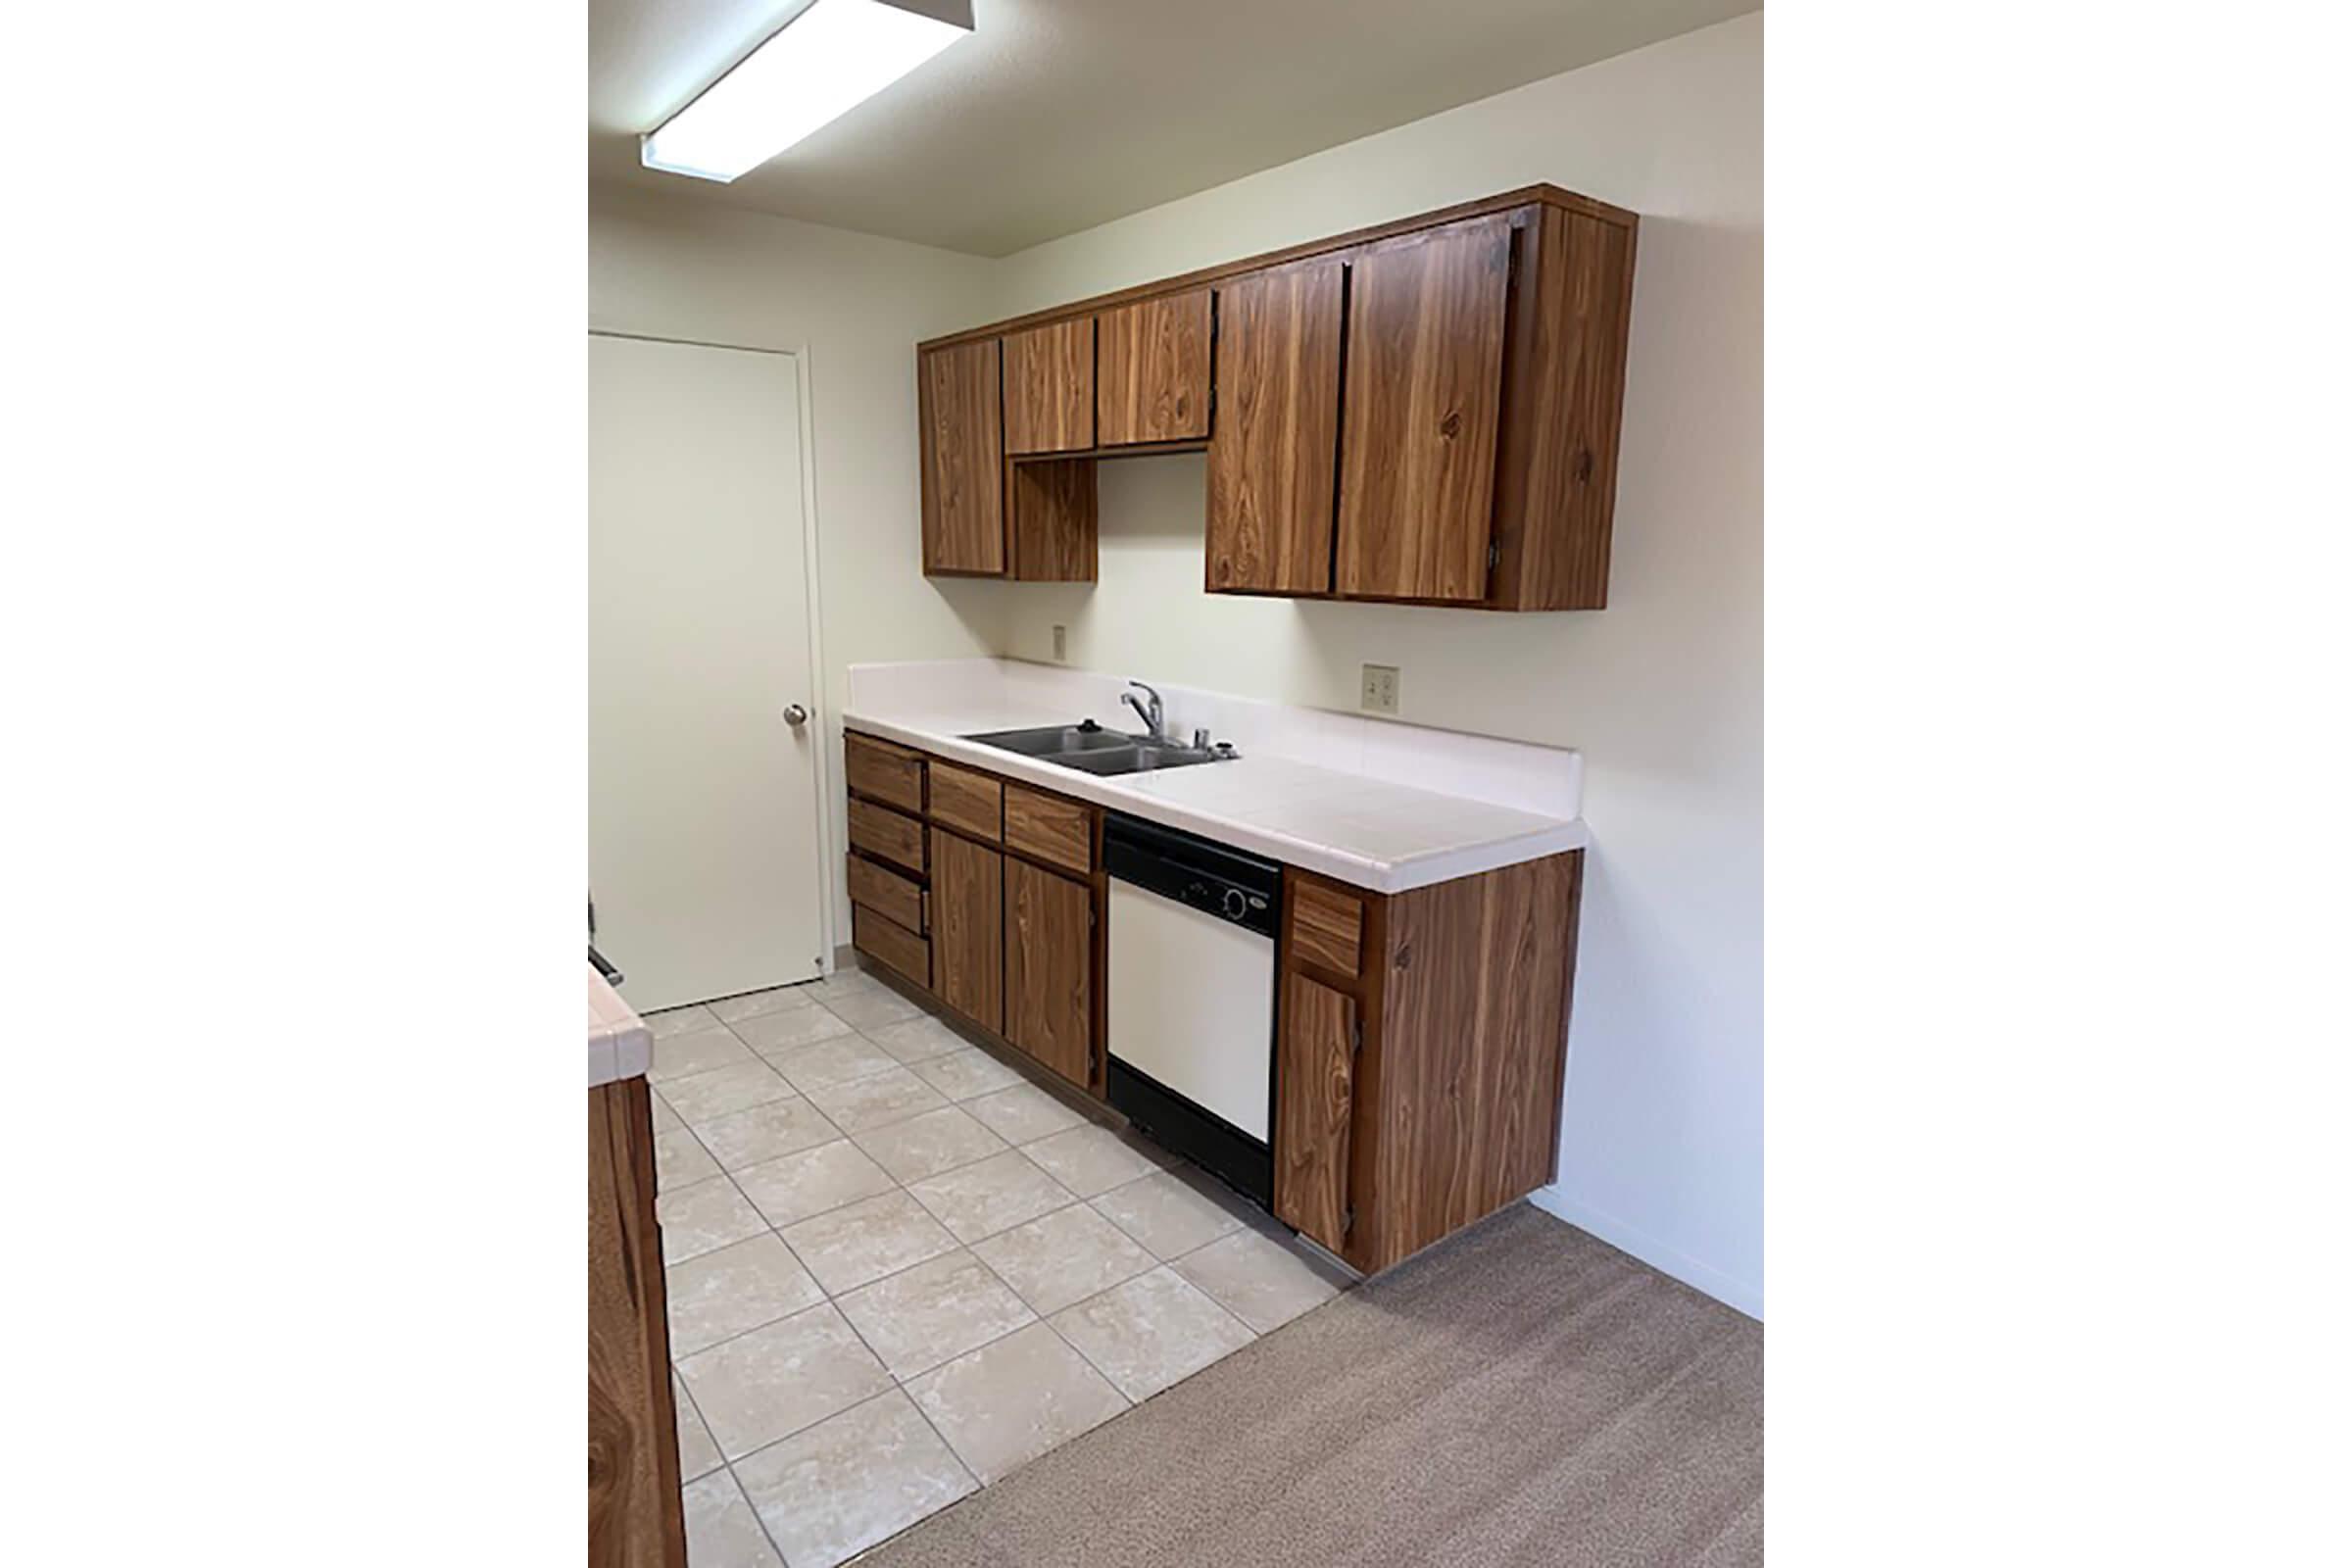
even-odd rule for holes
{"type": "Polygon", "coordinates": [[[647,169],[731,181],[842,118],[957,38],[969,5],[941,21],[882,0],[816,0],[746,54],[703,96],[637,139],[647,169]]]}

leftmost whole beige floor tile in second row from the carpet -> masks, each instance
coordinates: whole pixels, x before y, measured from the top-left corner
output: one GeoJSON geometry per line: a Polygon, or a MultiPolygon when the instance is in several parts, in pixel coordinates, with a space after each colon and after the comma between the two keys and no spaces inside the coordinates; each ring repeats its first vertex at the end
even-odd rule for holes
{"type": "Polygon", "coordinates": [[[677,1373],[729,1460],[814,1427],[891,1385],[830,1302],[691,1354],[677,1373]]]}

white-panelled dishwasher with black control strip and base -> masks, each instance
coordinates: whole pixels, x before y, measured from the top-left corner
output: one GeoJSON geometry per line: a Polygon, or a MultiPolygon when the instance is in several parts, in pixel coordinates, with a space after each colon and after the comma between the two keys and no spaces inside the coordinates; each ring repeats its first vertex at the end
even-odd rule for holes
{"type": "Polygon", "coordinates": [[[1108,813],[1110,1105],[1272,1206],[1282,865],[1108,813]]]}

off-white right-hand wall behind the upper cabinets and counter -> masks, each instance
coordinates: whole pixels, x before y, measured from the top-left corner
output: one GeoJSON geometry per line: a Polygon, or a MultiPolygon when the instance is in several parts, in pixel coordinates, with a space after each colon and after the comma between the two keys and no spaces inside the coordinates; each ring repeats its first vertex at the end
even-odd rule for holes
{"type": "MultiPolygon", "coordinates": [[[[1091,588],[1004,651],[1585,752],[1559,1185],[1545,1204],[1762,1314],[1764,26],[1750,14],[1004,259],[997,315],[1552,181],[1642,214],[1609,609],[1211,599],[1200,456],[1101,465],[1091,588]]],[[[901,458],[913,473],[913,458],[901,458]]],[[[913,550],[913,545],[908,545],[913,550]]]]}

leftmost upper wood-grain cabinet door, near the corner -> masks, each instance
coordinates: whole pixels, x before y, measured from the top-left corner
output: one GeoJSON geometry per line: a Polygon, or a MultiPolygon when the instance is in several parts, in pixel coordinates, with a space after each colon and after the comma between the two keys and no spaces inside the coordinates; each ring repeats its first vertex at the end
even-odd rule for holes
{"type": "Polygon", "coordinates": [[[1004,433],[997,341],[922,355],[922,569],[1002,576],[1004,433]]]}

